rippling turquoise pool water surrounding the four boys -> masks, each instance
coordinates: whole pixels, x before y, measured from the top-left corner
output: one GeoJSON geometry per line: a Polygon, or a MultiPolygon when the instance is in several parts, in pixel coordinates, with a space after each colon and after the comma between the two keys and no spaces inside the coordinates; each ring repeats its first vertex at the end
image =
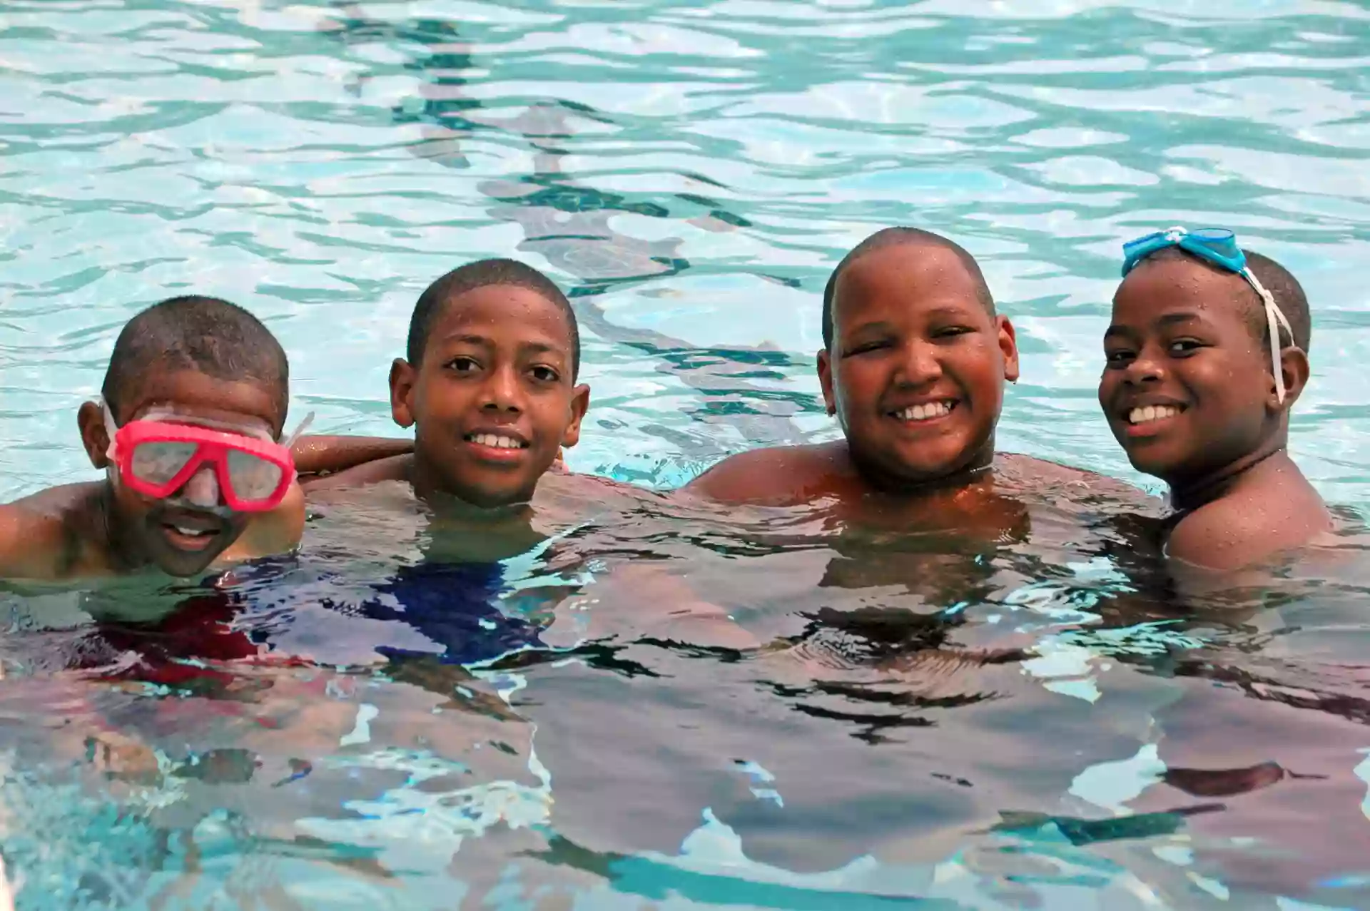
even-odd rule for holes
{"type": "Polygon", "coordinates": [[[1095,401],[1119,244],[1221,223],[1308,292],[1292,448],[1348,529],[1177,597],[1059,492],[986,542],[381,490],[221,579],[14,588],[16,906],[1370,907],[1367,163],[1356,3],[7,0],[5,499],[90,477],[77,405],[190,290],[269,322],[296,419],[401,433],[415,297],[492,255],[573,296],[571,467],[670,489],[834,436],[822,286],[895,223],[1018,327],[1000,448],[1145,485],[1095,401]],[[644,566],[786,648],[640,629],[644,566]]]}

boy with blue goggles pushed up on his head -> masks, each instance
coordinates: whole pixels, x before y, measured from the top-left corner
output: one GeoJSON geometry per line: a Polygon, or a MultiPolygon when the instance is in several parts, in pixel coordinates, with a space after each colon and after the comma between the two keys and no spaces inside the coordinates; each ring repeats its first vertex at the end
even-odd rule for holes
{"type": "Polygon", "coordinates": [[[1308,381],[1308,299],[1232,232],[1170,229],[1123,247],[1099,404],[1138,471],[1170,485],[1166,553],[1236,570],[1332,527],[1289,458],[1308,381]]]}

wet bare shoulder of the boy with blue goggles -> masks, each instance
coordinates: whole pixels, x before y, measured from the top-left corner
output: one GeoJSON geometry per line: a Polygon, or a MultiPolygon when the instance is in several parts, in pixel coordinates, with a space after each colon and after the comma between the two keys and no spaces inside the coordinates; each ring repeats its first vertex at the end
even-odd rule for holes
{"type": "Polygon", "coordinates": [[[1330,527],[1326,504],[1299,474],[1238,488],[1186,514],[1170,532],[1166,556],[1203,569],[1236,570],[1296,551],[1330,527]]]}

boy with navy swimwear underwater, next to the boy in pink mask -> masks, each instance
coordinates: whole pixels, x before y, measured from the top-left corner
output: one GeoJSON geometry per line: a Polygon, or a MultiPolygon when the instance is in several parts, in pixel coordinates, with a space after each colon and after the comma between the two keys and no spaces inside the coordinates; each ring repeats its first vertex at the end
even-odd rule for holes
{"type": "MultiPolygon", "coordinates": [[[[444,640],[440,644],[451,653],[464,647],[438,627],[460,626],[459,618],[443,610],[455,588],[474,606],[467,612],[480,612],[503,586],[500,560],[569,526],[582,526],[577,536],[584,540],[589,534],[584,523],[640,507],[653,495],[553,470],[560,448],[580,441],[590,393],[577,384],[575,312],[536,269],[486,259],[443,275],[419,296],[406,348],[406,358],[390,367],[390,411],[396,423],[414,427],[414,452],[307,481],[306,489],[312,500],[342,488],[400,482],[396,507],[407,507],[410,490],[429,507],[425,562],[400,573],[399,588],[388,595],[403,601],[412,618],[432,618],[433,638],[444,640]]],[[[404,540],[406,532],[395,529],[393,537],[404,540]]],[[[578,563],[563,548],[548,569],[578,563]]],[[[662,600],[674,601],[669,619],[658,618],[651,626],[653,633],[664,637],[685,623],[695,636],[696,619],[721,621],[710,630],[715,640],[752,644],[711,606],[673,597],[677,588],[670,577],[651,569],[619,567],[596,589],[625,582],[633,586],[633,603],[652,597],[653,586],[664,588],[662,600]]],[[[595,619],[601,618],[603,612],[595,619]]],[[[638,619],[634,629],[641,632],[638,619]]],[[[518,634],[532,642],[537,630],[518,634]]]]}

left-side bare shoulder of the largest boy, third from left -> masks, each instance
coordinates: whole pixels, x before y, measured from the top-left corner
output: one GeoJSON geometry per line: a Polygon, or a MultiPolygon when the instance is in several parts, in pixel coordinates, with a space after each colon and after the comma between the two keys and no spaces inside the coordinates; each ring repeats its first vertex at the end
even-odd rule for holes
{"type": "Polygon", "coordinates": [[[855,477],[844,442],[769,447],[730,455],[686,484],[685,496],[752,506],[796,506],[855,477]]]}

